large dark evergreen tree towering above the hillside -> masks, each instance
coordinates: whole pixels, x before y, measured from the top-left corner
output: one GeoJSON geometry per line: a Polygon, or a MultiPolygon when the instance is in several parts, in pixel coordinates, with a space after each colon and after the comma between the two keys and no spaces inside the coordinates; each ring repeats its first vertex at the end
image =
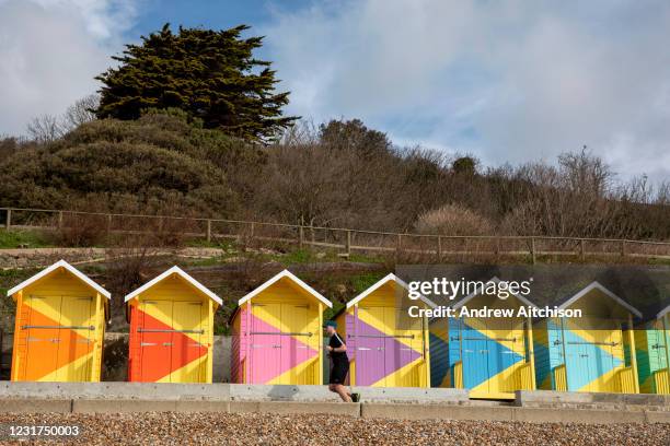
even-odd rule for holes
{"type": "Polygon", "coordinates": [[[147,108],[181,108],[206,128],[250,139],[267,140],[297,118],[282,116],[288,92],[276,93],[279,82],[270,62],[255,59],[263,37],[242,38],[249,26],[226,31],[180,27],[142,37],[127,45],[119,66],[96,79],[99,118],[137,119],[147,108]]]}

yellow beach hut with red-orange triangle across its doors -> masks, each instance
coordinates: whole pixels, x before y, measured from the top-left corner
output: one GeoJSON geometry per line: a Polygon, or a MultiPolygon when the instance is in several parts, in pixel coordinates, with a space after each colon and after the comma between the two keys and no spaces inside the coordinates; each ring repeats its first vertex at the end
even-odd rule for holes
{"type": "Polygon", "coordinates": [[[126,296],[128,380],[211,383],[213,314],[221,298],[172,267],[126,296]]]}

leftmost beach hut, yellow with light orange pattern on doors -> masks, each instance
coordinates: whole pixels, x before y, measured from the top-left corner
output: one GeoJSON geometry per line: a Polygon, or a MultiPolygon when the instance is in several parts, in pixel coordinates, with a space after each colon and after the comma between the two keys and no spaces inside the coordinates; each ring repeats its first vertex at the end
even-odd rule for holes
{"type": "Polygon", "coordinates": [[[12,380],[100,382],[105,289],[60,260],[7,294],[16,302],[12,380]]]}

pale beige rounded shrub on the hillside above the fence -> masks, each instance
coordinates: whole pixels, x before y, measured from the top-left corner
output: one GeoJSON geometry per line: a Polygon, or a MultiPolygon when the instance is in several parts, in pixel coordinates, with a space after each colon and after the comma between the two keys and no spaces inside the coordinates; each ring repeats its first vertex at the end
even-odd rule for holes
{"type": "Polygon", "coordinates": [[[475,211],[459,204],[446,204],[421,214],[416,231],[436,235],[492,235],[494,225],[475,211]]]}

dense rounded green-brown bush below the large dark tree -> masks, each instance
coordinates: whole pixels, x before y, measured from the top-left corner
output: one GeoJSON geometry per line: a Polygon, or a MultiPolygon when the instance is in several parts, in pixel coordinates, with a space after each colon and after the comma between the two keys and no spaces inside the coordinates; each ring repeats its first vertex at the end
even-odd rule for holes
{"type": "Polygon", "coordinates": [[[4,206],[233,215],[243,190],[229,173],[245,161],[263,156],[178,114],[104,119],[18,150],[0,167],[0,195],[4,206]]]}

